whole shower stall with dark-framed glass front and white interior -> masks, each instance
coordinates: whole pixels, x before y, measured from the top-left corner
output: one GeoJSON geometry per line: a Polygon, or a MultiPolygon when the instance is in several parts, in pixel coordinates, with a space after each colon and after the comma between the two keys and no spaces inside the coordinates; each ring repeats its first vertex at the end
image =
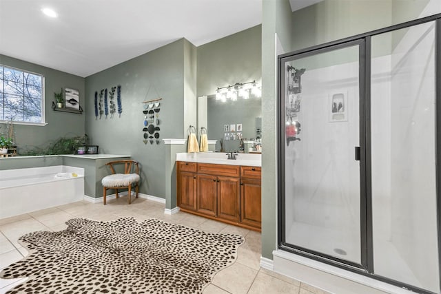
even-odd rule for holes
{"type": "Polygon", "coordinates": [[[440,291],[441,14],[278,58],[278,249],[440,291]]]}

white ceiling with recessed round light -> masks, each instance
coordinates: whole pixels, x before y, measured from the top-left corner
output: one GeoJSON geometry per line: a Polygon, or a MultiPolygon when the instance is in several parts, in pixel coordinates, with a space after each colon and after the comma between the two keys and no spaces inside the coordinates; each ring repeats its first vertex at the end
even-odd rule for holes
{"type": "MultiPolygon", "coordinates": [[[[305,1],[320,0],[291,8],[305,1]]],[[[262,0],[0,0],[0,54],[84,77],[183,37],[199,46],[261,22],[262,0]]]]}

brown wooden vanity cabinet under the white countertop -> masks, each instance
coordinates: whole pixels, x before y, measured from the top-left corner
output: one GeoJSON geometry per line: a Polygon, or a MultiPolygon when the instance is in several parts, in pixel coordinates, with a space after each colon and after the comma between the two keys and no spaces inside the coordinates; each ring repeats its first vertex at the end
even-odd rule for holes
{"type": "Polygon", "coordinates": [[[182,211],[260,230],[260,167],[177,162],[182,211]]]}

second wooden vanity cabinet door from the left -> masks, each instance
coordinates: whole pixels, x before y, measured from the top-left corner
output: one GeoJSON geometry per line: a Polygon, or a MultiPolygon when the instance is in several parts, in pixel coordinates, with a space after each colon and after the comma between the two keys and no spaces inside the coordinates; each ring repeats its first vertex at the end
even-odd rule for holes
{"type": "Polygon", "coordinates": [[[217,177],[198,174],[197,181],[198,192],[196,193],[196,211],[208,216],[216,216],[217,177]]]}

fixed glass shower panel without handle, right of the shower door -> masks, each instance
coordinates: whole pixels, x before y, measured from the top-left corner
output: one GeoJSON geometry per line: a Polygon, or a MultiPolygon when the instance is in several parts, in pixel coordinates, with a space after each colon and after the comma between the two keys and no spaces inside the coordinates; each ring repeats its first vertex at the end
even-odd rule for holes
{"type": "Polygon", "coordinates": [[[376,275],[440,293],[435,22],[371,43],[373,266],[376,275]]]}

